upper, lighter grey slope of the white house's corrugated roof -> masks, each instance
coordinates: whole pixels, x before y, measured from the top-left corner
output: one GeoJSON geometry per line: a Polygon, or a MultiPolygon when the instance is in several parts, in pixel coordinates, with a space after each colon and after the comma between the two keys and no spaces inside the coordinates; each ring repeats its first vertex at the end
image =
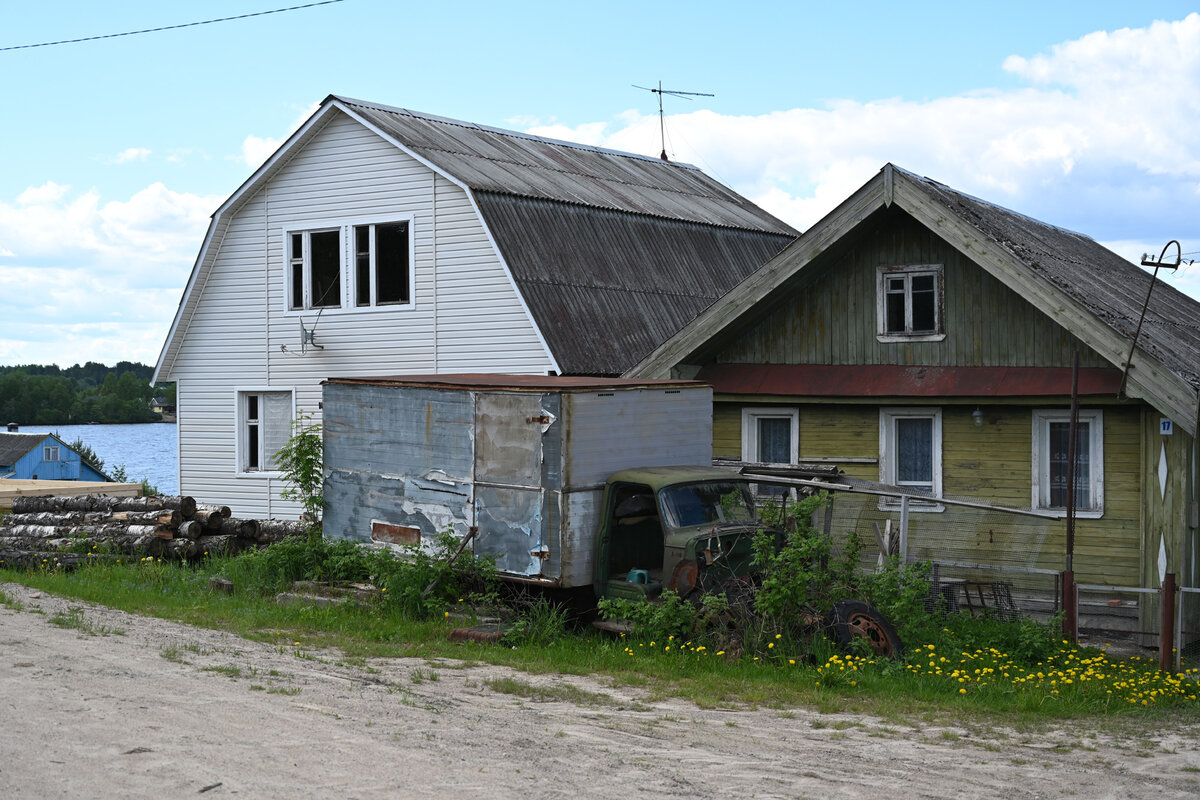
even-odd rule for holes
{"type": "Polygon", "coordinates": [[[690,164],[332,96],[473,190],[797,235],[690,164]]]}

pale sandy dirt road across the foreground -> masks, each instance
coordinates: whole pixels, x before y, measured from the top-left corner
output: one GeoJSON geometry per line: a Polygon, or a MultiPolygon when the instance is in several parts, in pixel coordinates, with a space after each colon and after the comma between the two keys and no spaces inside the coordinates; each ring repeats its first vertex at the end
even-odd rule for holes
{"type": "Polygon", "coordinates": [[[0,606],[4,798],[1200,796],[1196,727],[1018,732],[709,710],[577,676],[348,664],[0,591],[14,601],[0,606]],[[500,679],[578,691],[538,700],[500,679]]]}

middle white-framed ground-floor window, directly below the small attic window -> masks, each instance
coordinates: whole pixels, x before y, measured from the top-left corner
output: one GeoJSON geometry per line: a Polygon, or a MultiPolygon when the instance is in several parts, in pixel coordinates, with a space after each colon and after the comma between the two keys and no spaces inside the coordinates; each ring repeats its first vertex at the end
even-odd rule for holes
{"type": "MultiPolygon", "coordinates": [[[[942,495],[942,410],[937,408],[880,409],[880,481],[942,495]]],[[[884,507],[898,499],[883,498],[884,507]]],[[[913,501],[913,511],[941,511],[936,503],[913,501]]]]}

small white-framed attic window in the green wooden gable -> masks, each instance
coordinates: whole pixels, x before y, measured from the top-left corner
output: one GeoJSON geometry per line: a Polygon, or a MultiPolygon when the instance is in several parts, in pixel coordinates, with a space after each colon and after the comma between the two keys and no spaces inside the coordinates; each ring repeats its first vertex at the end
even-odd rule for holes
{"type": "Polygon", "coordinates": [[[877,335],[881,342],[940,342],[941,264],[881,266],[876,272],[877,335]]]}

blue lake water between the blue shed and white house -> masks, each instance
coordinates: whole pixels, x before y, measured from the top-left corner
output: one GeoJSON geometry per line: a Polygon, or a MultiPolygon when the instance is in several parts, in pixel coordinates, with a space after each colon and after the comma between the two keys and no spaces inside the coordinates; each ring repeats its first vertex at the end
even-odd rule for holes
{"type": "Polygon", "coordinates": [[[179,433],[169,422],[143,425],[23,425],[19,433],[54,433],[66,444],[82,439],[104,461],[104,471],[125,464],[131,481],[143,477],[162,494],[179,494],[179,433]]]}

